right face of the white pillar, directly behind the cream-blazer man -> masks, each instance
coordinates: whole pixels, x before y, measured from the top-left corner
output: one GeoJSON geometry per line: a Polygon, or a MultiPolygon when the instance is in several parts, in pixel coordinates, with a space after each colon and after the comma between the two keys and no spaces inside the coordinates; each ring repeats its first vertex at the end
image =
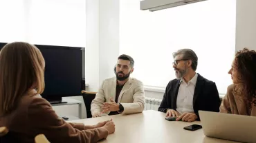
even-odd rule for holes
{"type": "Polygon", "coordinates": [[[119,56],[119,0],[100,0],[99,79],[114,76],[113,67],[119,56]]]}

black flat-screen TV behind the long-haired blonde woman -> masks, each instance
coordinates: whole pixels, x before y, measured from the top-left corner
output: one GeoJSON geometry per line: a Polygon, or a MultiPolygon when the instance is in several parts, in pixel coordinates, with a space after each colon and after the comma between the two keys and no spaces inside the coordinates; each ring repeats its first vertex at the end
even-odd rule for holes
{"type": "MultiPolygon", "coordinates": [[[[0,50],[4,45],[6,43],[0,43],[0,50]]],[[[85,90],[84,47],[35,46],[46,62],[45,89],[41,96],[52,103],[62,102],[66,96],[81,96],[85,90]]]]}

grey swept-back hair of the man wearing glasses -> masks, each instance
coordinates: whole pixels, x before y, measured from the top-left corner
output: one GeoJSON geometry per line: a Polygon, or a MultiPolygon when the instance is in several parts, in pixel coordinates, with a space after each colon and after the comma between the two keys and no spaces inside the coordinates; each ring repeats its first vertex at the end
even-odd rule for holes
{"type": "Polygon", "coordinates": [[[196,71],[198,58],[196,56],[196,53],[193,50],[181,49],[181,50],[178,50],[177,52],[174,52],[172,55],[174,58],[177,55],[182,55],[183,59],[191,60],[192,61],[191,67],[192,69],[194,69],[194,71],[196,71]]]}

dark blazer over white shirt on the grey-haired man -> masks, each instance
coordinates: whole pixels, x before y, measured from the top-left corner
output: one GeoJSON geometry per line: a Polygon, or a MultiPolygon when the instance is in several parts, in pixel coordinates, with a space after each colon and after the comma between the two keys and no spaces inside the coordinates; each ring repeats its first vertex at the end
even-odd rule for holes
{"type": "MultiPolygon", "coordinates": [[[[180,80],[177,79],[171,80],[168,83],[158,111],[166,113],[167,109],[176,110],[179,86],[180,80]]],[[[215,83],[198,74],[193,98],[194,113],[199,117],[199,110],[219,112],[220,103],[221,100],[219,99],[219,92],[215,83]]]]}

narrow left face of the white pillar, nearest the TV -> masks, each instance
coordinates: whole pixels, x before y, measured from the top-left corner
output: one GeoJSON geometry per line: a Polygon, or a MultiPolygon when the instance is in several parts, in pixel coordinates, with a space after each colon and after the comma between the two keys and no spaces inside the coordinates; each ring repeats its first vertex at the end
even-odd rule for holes
{"type": "Polygon", "coordinates": [[[99,86],[99,0],[86,0],[86,90],[95,91],[99,86]]]}

